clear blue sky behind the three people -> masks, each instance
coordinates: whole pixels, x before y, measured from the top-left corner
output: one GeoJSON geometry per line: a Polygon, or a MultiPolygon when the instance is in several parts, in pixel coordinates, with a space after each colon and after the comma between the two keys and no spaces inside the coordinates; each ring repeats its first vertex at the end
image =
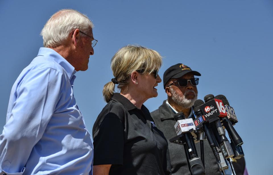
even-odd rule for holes
{"type": "MultiPolygon", "coordinates": [[[[40,31],[60,9],[76,9],[94,22],[98,39],[89,69],[77,72],[75,97],[88,130],[106,105],[104,84],[113,78],[110,60],[128,44],[158,51],[159,75],[183,63],[202,76],[198,98],[224,94],[235,109],[235,129],[244,144],[250,174],[272,174],[273,1],[0,1],[0,130],[5,124],[11,87],[42,47],[40,31]]],[[[166,94],[145,102],[157,109],[166,94]]],[[[29,102],[31,103],[31,101],[29,102]]],[[[181,153],[183,154],[183,153],[181,153]]]]}

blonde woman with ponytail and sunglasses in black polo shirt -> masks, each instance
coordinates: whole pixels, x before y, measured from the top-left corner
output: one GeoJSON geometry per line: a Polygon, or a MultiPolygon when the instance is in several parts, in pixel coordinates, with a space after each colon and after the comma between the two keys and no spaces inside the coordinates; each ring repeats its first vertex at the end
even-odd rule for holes
{"type": "Polygon", "coordinates": [[[142,46],[113,56],[115,78],[104,86],[107,105],[93,126],[94,175],[171,174],[167,140],[143,105],[158,95],[161,64],[158,52],[142,46]]]}

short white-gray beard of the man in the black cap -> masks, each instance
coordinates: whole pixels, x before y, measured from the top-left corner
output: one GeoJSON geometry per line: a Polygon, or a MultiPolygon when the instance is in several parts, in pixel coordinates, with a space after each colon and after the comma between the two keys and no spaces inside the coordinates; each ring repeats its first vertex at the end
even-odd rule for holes
{"type": "Polygon", "coordinates": [[[183,95],[179,95],[173,88],[170,87],[170,92],[171,92],[171,99],[179,106],[183,107],[183,109],[188,109],[193,106],[193,103],[197,99],[197,93],[193,90],[187,90],[183,95]],[[194,99],[187,99],[185,96],[187,93],[193,92],[195,97],[194,99]]]}

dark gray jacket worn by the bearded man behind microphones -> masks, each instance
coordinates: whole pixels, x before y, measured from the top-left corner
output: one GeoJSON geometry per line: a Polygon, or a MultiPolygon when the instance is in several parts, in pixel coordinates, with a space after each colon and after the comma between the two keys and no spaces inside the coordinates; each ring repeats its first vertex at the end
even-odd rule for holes
{"type": "MultiPolygon", "coordinates": [[[[181,174],[190,175],[191,173],[187,165],[187,159],[185,156],[183,145],[178,145],[178,144],[169,142],[169,139],[177,136],[174,129],[175,120],[173,118],[173,115],[174,115],[174,112],[166,104],[166,100],[157,110],[151,113],[151,116],[154,119],[156,127],[164,133],[168,141],[172,174],[173,175],[181,175],[181,174]]],[[[198,152],[198,156],[201,157],[200,143],[197,143],[195,146],[198,152]]],[[[212,150],[210,148],[208,141],[204,141],[204,155],[205,155],[206,175],[222,174],[219,171],[216,159],[212,153],[212,150]]]]}

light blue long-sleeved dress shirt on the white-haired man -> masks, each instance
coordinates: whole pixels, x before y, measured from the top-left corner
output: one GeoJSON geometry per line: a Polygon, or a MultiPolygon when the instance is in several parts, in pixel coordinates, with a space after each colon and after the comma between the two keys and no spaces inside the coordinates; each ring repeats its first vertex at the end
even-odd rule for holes
{"type": "Polygon", "coordinates": [[[92,174],[93,140],[73,95],[75,72],[44,47],[21,72],[0,136],[0,175],[92,174]]]}

